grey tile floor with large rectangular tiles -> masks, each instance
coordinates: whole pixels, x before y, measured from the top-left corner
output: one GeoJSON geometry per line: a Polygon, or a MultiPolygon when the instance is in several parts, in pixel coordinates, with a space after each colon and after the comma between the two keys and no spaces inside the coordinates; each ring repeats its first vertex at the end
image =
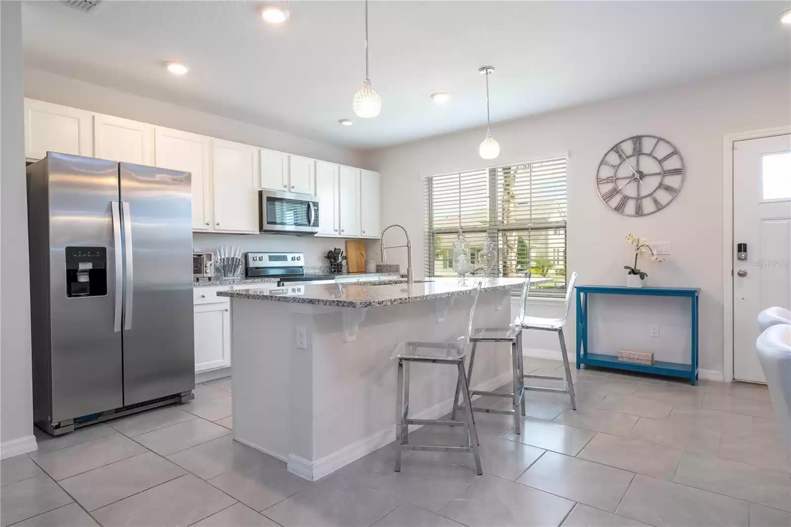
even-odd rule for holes
{"type": "MultiPolygon", "coordinates": [[[[315,483],[233,442],[230,379],[209,381],[180,407],[39,434],[35,453],[2,461],[0,527],[791,526],[766,388],[574,375],[577,411],[528,392],[520,435],[509,415],[475,415],[483,476],[461,453],[404,453],[396,473],[388,445],[315,483]]],[[[460,430],[411,432],[449,438],[460,430]]]]}

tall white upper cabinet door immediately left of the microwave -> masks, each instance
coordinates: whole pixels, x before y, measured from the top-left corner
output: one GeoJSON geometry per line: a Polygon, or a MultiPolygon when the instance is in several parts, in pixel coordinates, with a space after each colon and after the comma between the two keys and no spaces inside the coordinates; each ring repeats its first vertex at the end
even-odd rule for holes
{"type": "Polygon", "coordinates": [[[214,139],[213,144],[213,229],[258,233],[259,149],[220,139],[214,139]]]}

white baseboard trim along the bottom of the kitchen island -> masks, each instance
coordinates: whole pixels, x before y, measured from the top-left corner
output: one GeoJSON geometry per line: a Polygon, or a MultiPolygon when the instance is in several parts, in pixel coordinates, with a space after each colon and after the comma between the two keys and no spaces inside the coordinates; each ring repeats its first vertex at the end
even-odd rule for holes
{"type": "MultiPolygon", "coordinates": [[[[482,382],[480,385],[475,385],[474,389],[490,392],[502,385],[505,385],[506,382],[511,381],[513,379],[512,375],[513,374],[511,372],[502,373],[501,375],[498,375],[498,377],[494,377],[489,381],[482,382]]],[[[452,405],[453,400],[448,398],[448,400],[443,400],[440,403],[434,404],[430,408],[426,408],[426,410],[418,412],[417,414],[413,415],[413,417],[414,419],[438,419],[442,415],[447,414],[448,411],[451,411],[452,405]]],[[[395,441],[395,427],[387,427],[383,430],[379,430],[375,434],[369,435],[367,438],[363,438],[358,442],[346,445],[342,449],[335,450],[335,452],[327,454],[324,457],[320,457],[316,461],[311,462],[306,460],[304,457],[290,454],[287,461],[288,469],[289,472],[303,477],[305,480],[320,480],[324,476],[335,472],[339,468],[345,467],[352,461],[356,461],[366,454],[372,453],[374,450],[380,449],[384,445],[387,445],[393,441],[395,441]]],[[[245,445],[248,445],[248,443],[245,443],[245,445]]],[[[254,445],[248,446],[252,446],[252,448],[264,452],[263,449],[259,449],[254,445]]]]}

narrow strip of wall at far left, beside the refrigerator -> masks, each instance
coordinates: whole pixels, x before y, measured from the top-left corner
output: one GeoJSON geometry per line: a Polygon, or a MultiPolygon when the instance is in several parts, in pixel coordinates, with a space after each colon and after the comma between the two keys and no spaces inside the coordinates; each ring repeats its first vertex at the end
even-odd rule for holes
{"type": "Polygon", "coordinates": [[[36,449],[30,366],[30,290],[20,2],[0,2],[0,456],[36,449]]]}

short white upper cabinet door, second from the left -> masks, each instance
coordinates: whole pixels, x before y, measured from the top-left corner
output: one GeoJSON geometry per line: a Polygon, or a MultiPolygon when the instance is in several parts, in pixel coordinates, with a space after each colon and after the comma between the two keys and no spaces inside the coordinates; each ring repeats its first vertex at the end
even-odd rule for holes
{"type": "Polygon", "coordinates": [[[93,116],[95,157],[136,165],[153,165],[153,124],[120,117],[93,116]]]}

